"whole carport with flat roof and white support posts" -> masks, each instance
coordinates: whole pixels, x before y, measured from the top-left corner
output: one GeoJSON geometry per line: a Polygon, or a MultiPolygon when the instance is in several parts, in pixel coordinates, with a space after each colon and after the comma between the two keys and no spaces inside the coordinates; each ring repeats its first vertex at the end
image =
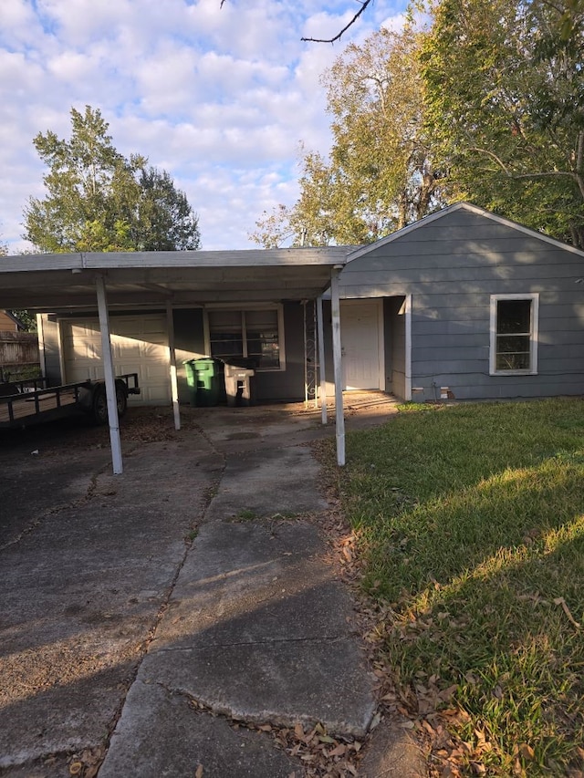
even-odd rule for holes
{"type": "MultiPolygon", "coordinates": [[[[25,308],[85,313],[98,308],[103,374],[110,417],[113,472],[123,471],[110,312],[166,310],[169,382],[174,424],[180,429],[172,311],[174,306],[281,300],[316,300],[318,364],[325,364],[322,294],[330,288],[336,409],[337,462],[345,463],[339,319],[342,246],[218,252],[136,252],[110,254],[25,254],[0,262],[0,309],[25,308]]],[[[326,382],[320,371],[322,421],[327,422],[326,382]]]]}

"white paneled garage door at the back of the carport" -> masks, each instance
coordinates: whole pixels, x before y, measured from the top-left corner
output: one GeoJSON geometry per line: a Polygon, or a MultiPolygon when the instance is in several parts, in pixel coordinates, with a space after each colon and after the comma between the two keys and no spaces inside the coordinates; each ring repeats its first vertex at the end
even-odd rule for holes
{"type": "MultiPolygon", "coordinates": [[[[166,316],[111,316],[111,350],[117,375],[138,373],[141,394],[132,404],[171,401],[166,316]]],[[[101,335],[97,318],[61,321],[63,359],[68,383],[103,379],[101,335]]]]}

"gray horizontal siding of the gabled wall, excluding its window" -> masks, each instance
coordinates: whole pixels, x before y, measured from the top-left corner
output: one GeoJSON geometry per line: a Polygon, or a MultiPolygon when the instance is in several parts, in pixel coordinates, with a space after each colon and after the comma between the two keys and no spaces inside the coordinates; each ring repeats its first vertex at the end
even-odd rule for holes
{"type": "MultiPolygon", "coordinates": [[[[339,287],[348,298],[412,296],[412,386],[424,399],[441,387],[457,399],[544,397],[584,389],[582,275],[579,254],[461,209],[350,260],[339,287]],[[491,295],[531,293],[537,375],[489,375],[491,295]]],[[[388,314],[395,349],[400,322],[388,314]]],[[[397,366],[394,356],[391,386],[403,396],[397,366]]]]}

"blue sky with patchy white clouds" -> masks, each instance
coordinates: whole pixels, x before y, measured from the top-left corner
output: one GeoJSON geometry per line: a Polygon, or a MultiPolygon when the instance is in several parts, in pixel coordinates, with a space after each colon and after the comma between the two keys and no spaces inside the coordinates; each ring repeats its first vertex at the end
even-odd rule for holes
{"type": "Polygon", "coordinates": [[[113,145],[168,171],[199,216],[203,249],[252,248],[264,211],[297,199],[300,144],[330,144],[323,72],[349,43],[400,26],[403,0],[0,0],[0,242],[22,240],[45,196],[33,138],[69,138],[70,109],[99,109],[113,145]]]}

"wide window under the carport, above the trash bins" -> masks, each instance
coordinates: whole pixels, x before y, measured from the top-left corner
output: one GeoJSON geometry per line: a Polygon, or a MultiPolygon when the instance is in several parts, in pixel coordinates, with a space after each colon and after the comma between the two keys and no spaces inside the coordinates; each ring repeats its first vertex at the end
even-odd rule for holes
{"type": "Polygon", "coordinates": [[[209,310],[207,327],[212,357],[252,358],[259,370],[284,369],[281,306],[209,310]]]}

